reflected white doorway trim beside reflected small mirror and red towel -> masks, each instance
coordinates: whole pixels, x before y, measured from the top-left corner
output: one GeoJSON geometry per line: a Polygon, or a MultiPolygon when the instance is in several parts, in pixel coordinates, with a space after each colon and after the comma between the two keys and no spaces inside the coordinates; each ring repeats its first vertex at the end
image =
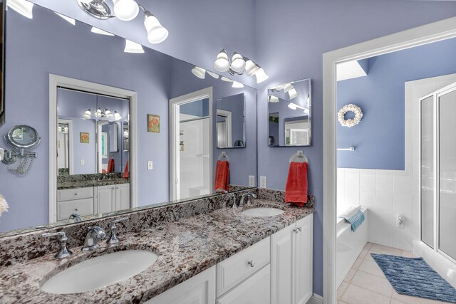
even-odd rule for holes
{"type": "Polygon", "coordinates": [[[179,195],[176,193],[176,184],[179,183],[177,180],[177,170],[179,169],[179,136],[176,125],[179,124],[179,107],[185,103],[192,103],[203,98],[209,98],[209,185],[212,183],[212,157],[213,157],[213,146],[212,146],[212,87],[197,90],[192,93],[181,95],[176,98],[170,99],[170,201],[175,201],[179,195]],[[177,181],[177,182],[176,182],[177,181]]]}

